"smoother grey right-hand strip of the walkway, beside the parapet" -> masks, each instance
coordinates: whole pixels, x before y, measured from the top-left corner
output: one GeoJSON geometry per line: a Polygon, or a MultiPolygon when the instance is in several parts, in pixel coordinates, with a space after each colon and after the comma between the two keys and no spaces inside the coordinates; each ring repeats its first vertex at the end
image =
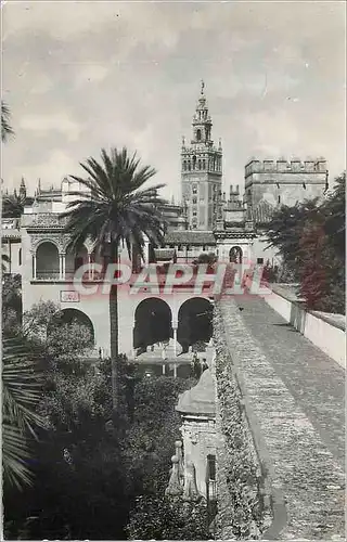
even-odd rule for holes
{"type": "Polygon", "coordinates": [[[345,371],[260,297],[235,298],[267,360],[334,457],[345,465],[345,371]]]}

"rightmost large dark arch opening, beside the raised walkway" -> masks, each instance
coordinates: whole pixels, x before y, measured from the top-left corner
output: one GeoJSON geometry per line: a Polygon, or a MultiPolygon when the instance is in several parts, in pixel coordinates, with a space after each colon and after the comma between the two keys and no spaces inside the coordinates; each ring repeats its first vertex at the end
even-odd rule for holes
{"type": "Polygon", "coordinates": [[[213,336],[214,307],[208,299],[193,297],[181,305],[178,312],[177,340],[182,353],[189,347],[209,343],[213,336]]]}

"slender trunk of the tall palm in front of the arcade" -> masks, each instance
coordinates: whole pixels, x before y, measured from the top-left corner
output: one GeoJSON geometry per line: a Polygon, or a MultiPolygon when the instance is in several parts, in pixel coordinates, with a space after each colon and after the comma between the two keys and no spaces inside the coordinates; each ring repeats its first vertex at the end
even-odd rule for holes
{"type": "MultiPolygon", "coordinates": [[[[111,247],[111,262],[118,263],[118,245],[111,247]]],[[[118,292],[116,285],[110,289],[110,338],[111,338],[111,367],[112,367],[112,401],[114,411],[118,406],[118,292]]]]}

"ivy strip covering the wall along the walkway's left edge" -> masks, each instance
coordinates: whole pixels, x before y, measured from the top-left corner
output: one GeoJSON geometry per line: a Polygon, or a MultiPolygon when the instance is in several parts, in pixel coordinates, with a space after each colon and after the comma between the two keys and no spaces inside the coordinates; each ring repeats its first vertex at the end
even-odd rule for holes
{"type": "Polygon", "coordinates": [[[221,314],[215,306],[217,384],[217,538],[257,540],[265,528],[260,469],[244,412],[221,314]]]}

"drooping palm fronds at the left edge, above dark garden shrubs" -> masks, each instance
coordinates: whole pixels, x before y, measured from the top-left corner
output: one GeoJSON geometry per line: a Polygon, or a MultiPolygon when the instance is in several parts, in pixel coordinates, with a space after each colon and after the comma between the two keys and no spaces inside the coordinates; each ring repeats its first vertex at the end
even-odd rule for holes
{"type": "Polygon", "coordinates": [[[21,337],[4,338],[2,351],[2,465],[4,481],[21,488],[31,482],[28,436],[43,427],[36,413],[41,398],[40,379],[21,337]]]}

